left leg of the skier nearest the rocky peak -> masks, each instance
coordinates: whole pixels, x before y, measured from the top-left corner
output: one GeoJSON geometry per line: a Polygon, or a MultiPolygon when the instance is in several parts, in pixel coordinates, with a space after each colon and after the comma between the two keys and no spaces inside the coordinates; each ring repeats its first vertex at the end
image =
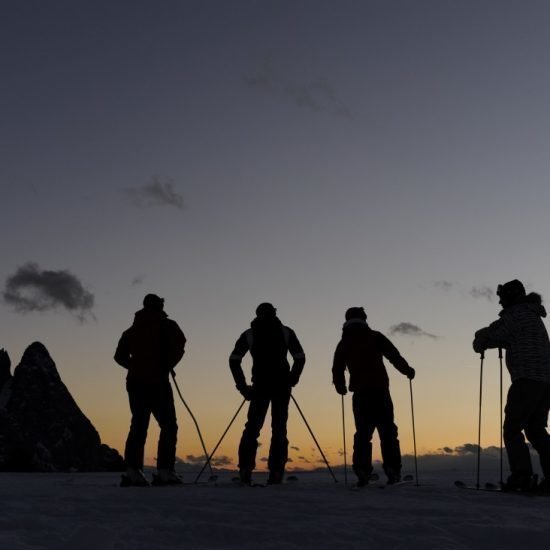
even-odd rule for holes
{"type": "Polygon", "coordinates": [[[142,470],[147,429],[151,417],[151,403],[147,392],[148,388],[145,384],[135,380],[127,380],[126,389],[132,420],[126,439],[124,461],[127,468],[142,470]]]}

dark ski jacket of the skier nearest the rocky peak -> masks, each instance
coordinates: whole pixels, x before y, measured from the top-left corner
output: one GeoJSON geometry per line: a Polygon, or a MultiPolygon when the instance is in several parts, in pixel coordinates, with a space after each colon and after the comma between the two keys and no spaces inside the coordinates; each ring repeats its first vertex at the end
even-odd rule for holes
{"type": "Polygon", "coordinates": [[[128,369],[128,378],[166,380],[185,352],[185,335],[164,311],[142,309],[120,337],[115,361],[128,369]]]}

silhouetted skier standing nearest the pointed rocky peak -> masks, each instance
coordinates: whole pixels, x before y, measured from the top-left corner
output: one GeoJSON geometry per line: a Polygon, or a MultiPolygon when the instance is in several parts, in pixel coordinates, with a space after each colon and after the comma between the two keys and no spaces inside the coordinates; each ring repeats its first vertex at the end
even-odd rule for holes
{"type": "Polygon", "coordinates": [[[186,340],[163,310],[164,299],[147,294],[143,309],[122,334],[115,353],[115,361],[128,369],[126,389],[132,412],[124,452],[127,472],[121,485],[148,485],[143,455],[151,414],[160,426],[154,483],[181,483],[174,472],[178,424],[169,374],[183,357],[186,340]]]}

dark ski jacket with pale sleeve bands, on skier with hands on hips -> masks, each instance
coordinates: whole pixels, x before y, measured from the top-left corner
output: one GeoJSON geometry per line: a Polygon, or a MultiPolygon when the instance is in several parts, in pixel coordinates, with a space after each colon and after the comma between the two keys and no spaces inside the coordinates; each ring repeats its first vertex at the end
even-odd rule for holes
{"type": "Polygon", "coordinates": [[[256,318],[243,332],[229,357],[229,367],[237,389],[246,386],[241,361],[247,352],[252,356],[252,385],[259,388],[288,388],[298,382],[306,356],[294,331],[277,317],[256,318]],[[290,367],[287,355],[293,358],[290,367]]]}

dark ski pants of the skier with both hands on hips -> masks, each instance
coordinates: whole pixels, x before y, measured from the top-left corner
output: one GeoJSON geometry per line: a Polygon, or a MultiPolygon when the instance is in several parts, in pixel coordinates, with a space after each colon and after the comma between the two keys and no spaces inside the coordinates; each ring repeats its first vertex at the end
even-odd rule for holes
{"type": "Polygon", "coordinates": [[[288,439],[286,424],[288,420],[288,405],[290,388],[257,389],[248,407],[247,422],[239,444],[239,468],[254,470],[256,467],[256,452],[258,437],[264,425],[267,409],[271,404],[271,444],[267,466],[270,472],[284,473],[288,460],[288,439]]]}

